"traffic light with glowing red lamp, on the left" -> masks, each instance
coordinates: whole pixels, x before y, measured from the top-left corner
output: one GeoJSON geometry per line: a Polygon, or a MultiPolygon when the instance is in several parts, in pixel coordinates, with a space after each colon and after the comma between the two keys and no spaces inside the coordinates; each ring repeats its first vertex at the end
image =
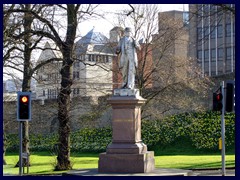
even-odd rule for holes
{"type": "Polygon", "coordinates": [[[31,120],[31,92],[18,92],[17,120],[31,120]]]}

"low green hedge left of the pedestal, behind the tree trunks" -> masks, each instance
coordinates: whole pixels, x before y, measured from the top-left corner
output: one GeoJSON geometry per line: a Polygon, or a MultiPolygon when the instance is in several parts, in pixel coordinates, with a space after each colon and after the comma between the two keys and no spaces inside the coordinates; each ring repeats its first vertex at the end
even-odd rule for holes
{"type": "MultiPolygon", "coordinates": [[[[30,151],[51,151],[56,154],[58,134],[32,134],[30,135],[30,151]]],[[[7,151],[16,152],[19,150],[19,137],[17,134],[9,134],[7,139],[7,151]]],[[[105,151],[112,140],[110,127],[105,128],[84,128],[71,133],[71,151],[101,152],[105,151]]]]}

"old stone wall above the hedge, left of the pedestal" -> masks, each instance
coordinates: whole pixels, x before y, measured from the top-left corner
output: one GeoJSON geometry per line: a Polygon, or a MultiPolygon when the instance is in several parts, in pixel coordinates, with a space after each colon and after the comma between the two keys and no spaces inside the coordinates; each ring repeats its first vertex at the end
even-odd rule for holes
{"type": "MultiPolygon", "coordinates": [[[[92,98],[76,97],[71,102],[70,119],[71,130],[76,131],[84,127],[101,127],[110,124],[109,107],[106,98],[99,99],[98,104],[92,98]]],[[[29,133],[48,134],[58,131],[58,103],[57,100],[32,101],[32,120],[29,122],[29,133]]],[[[17,103],[3,103],[4,130],[6,133],[18,133],[17,103]]]]}

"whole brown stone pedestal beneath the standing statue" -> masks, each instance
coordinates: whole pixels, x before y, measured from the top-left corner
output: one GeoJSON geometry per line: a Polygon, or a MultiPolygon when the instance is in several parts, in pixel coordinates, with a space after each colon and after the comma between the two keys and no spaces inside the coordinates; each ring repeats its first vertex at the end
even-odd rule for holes
{"type": "Polygon", "coordinates": [[[112,143],[99,155],[98,171],[151,172],[155,166],[154,152],[147,151],[141,140],[141,106],[146,100],[139,96],[138,90],[116,91],[108,99],[113,109],[112,143]]]}

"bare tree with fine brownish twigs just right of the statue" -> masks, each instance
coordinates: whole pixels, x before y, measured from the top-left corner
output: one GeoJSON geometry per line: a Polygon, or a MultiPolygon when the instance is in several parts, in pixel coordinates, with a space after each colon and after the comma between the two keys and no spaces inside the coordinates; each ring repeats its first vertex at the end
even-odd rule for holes
{"type": "Polygon", "coordinates": [[[137,84],[147,99],[145,117],[201,109],[194,94],[205,97],[209,81],[200,77],[199,68],[188,58],[188,29],[182,14],[179,18],[159,14],[157,5],[149,4],[131,8],[119,24],[132,25],[135,38],[142,43],[137,84]]]}

